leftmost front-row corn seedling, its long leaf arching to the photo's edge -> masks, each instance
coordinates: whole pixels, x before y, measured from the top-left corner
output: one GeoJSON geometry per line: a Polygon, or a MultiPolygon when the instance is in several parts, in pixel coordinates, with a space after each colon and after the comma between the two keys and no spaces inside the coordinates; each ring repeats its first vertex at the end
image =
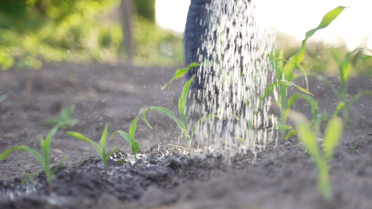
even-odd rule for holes
{"type": "Polygon", "coordinates": [[[5,158],[6,156],[8,156],[10,153],[14,151],[19,150],[19,151],[28,152],[33,157],[35,157],[36,160],[38,160],[39,163],[44,168],[45,176],[47,178],[47,182],[49,186],[49,192],[52,192],[52,177],[54,173],[57,172],[57,170],[62,166],[62,164],[65,161],[65,158],[64,158],[64,160],[62,160],[62,162],[58,164],[57,167],[53,168],[52,170],[51,168],[49,168],[50,145],[51,145],[53,136],[57,133],[57,130],[58,130],[58,126],[55,126],[51,131],[49,131],[47,138],[44,139],[43,136],[40,137],[40,146],[42,149],[42,154],[40,154],[39,152],[35,151],[34,149],[32,149],[31,147],[27,145],[20,145],[18,147],[13,147],[13,148],[10,148],[4,151],[3,154],[0,155],[0,160],[2,160],[3,158],[5,158]]]}

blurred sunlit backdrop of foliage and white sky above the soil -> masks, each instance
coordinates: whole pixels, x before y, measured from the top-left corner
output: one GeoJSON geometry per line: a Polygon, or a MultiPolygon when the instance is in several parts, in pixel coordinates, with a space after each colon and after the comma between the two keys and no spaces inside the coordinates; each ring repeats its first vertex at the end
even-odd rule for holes
{"type": "MultiPolygon", "coordinates": [[[[0,69],[39,69],[43,63],[130,62],[134,65],[183,65],[183,33],[190,0],[68,0],[0,2],[0,69]],[[45,3],[46,2],[46,3],[45,3]],[[48,2],[52,2],[49,4],[48,2]],[[68,3],[66,3],[68,2],[68,3]],[[124,12],[123,2],[132,8],[124,12]],[[48,3],[48,4],[47,4],[48,3]],[[40,4],[40,5],[39,5],[40,4]],[[72,11],[72,12],[71,12],[72,11]],[[125,28],[125,23],[129,28],[125,28]],[[130,30],[130,31],[129,31],[130,30]],[[129,32],[128,32],[129,31],[129,32]],[[132,34],[131,37],[128,34],[132,34]],[[129,42],[125,38],[130,38],[129,42]],[[129,51],[129,52],[128,52],[129,51]]],[[[365,48],[371,55],[372,1],[369,0],[260,0],[257,20],[276,30],[278,50],[289,58],[305,33],[317,27],[329,10],[348,6],[307,44],[304,66],[331,72],[335,63],[329,48],[340,55],[365,48]]],[[[359,71],[369,71],[371,59],[359,71]]]]}

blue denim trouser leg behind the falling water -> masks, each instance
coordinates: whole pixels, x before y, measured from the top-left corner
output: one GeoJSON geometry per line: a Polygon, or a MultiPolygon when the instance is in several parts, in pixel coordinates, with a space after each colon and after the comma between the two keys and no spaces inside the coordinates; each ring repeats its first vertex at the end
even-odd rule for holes
{"type": "MultiPolygon", "coordinates": [[[[185,64],[188,66],[192,62],[202,62],[202,58],[207,56],[206,49],[202,48],[203,41],[208,38],[209,31],[209,14],[205,9],[206,4],[212,0],[191,0],[189,12],[187,13],[185,27],[185,64]]],[[[204,72],[198,72],[199,67],[194,67],[187,73],[187,80],[196,75],[191,88],[203,89],[204,83],[211,78],[210,72],[203,76],[204,72]],[[201,78],[199,78],[201,75],[201,78]],[[199,82],[200,79],[200,82],[199,82]]],[[[201,69],[203,71],[203,69],[201,69]]]]}

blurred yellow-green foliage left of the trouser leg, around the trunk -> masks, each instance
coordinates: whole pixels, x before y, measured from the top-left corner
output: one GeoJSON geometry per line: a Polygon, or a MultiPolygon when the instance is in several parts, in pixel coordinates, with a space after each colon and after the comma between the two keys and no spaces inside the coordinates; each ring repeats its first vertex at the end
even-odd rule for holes
{"type": "MultiPolygon", "coordinates": [[[[0,1],[0,70],[39,69],[43,61],[120,61],[121,23],[107,18],[119,4],[120,0],[0,1]]],[[[148,18],[135,21],[135,62],[182,63],[182,37],[148,18]]]]}

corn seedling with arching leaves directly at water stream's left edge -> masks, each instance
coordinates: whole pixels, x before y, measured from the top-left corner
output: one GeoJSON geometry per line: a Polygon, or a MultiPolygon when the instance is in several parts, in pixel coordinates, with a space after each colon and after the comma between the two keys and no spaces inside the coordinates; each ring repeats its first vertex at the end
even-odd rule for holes
{"type": "MultiPolygon", "coordinates": [[[[212,115],[214,116],[214,113],[210,113],[209,115],[203,116],[201,119],[199,119],[198,123],[196,123],[193,126],[193,128],[190,130],[190,126],[187,124],[187,118],[186,118],[186,102],[187,102],[187,95],[188,95],[188,92],[189,92],[189,88],[190,88],[191,82],[193,81],[194,78],[195,78],[195,75],[193,75],[193,77],[189,81],[186,82],[185,86],[183,87],[182,94],[181,94],[181,96],[178,100],[178,110],[179,110],[180,115],[181,115],[181,120],[176,118],[176,116],[174,116],[174,114],[172,112],[170,112],[170,110],[166,109],[165,107],[151,106],[151,107],[147,108],[145,110],[145,112],[142,114],[142,120],[151,129],[152,129],[152,127],[151,127],[150,123],[148,123],[146,118],[145,118],[145,115],[149,110],[157,110],[157,111],[159,111],[161,113],[164,113],[167,116],[169,116],[169,118],[171,118],[177,124],[177,126],[182,130],[182,133],[185,135],[188,150],[190,150],[190,148],[191,148],[191,139],[193,138],[193,135],[195,133],[196,125],[198,123],[200,123],[202,120],[204,120],[206,118],[209,118],[212,115]]],[[[179,147],[179,146],[177,146],[177,147],[179,147]]]]}

